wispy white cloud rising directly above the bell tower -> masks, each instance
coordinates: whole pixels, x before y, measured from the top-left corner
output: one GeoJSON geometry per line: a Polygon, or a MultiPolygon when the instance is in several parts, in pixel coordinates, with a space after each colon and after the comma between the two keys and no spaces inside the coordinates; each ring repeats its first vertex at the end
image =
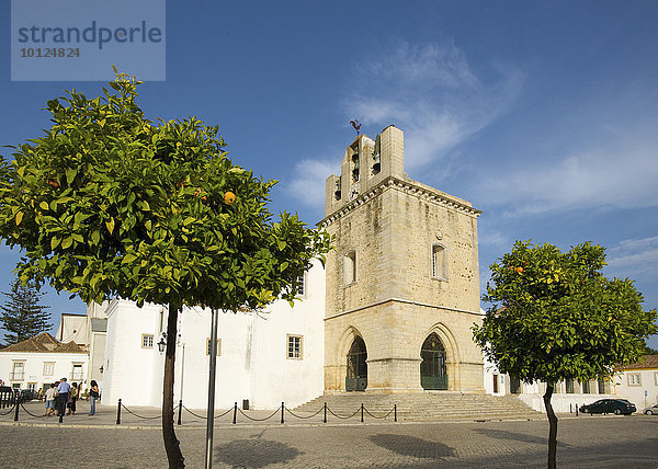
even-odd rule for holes
{"type": "Polygon", "coordinates": [[[422,167],[444,157],[489,125],[514,100],[521,75],[496,68],[485,80],[452,42],[408,43],[354,67],[344,107],[366,126],[405,130],[405,164],[422,167]]]}

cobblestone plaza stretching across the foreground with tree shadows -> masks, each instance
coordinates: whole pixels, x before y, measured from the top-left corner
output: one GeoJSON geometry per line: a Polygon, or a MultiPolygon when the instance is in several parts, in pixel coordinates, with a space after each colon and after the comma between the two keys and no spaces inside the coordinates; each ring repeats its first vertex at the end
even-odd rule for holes
{"type": "MultiPolygon", "coordinates": [[[[36,403],[35,403],[36,404],[36,403]]],[[[36,411],[37,405],[27,409],[36,411]]],[[[82,409],[84,410],[84,409],[82,409]]],[[[157,415],[156,409],[146,415],[157,415]]],[[[0,419],[2,468],[164,468],[158,420],[115,425],[115,410],[75,415],[0,419]],[[141,422],[141,423],[139,423],[141,422]],[[139,427],[138,427],[139,425],[139,427]]],[[[564,415],[557,462],[563,468],[658,467],[657,416],[564,415]]],[[[440,423],[218,423],[217,468],[542,468],[548,423],[536,421],[440,423]]],[[[205,428],[190,419],[177,427],[186,467],[203,467],[205,428]]]]}

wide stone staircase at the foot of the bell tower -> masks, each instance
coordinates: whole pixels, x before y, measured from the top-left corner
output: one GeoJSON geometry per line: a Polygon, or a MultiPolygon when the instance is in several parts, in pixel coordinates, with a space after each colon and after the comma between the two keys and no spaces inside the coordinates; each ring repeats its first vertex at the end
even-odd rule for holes
{"type": "MultiPolygon", "coordinates": [[[[386,414],[397,404],[400,421],[490,421],[543,419],[544,413],[526,405],[515,396],[466,394],[453,391],[419,393],[344,392],[324,394],[297,407],[295,412],[316,412],[327,402],[338,415],[350,415],[361,409],[375,416],[386,414]]],[[[356,417],[360,416],[358,412],[356,417]]],[[[367,414],[364,420],[371,421],[367,414]]],[[[393,421],[393,413],[386,419],[393,421]]]]}

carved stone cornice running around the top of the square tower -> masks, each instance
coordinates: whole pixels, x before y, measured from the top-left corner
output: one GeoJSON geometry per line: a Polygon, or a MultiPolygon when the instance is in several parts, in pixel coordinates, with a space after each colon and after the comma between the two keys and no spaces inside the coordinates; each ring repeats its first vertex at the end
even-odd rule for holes
{"type": "Polygon", "coordinates": [[[397,188],[399,191],[404,191],[420,199],[424,199],[436,205],[442,205],[446,208],[463,213],[470,217],[477,218],[481,214],[481,210],[474,208],[470,204],[464,203],[458,198],[451,197],[450,195],[444,194],[435,188],[432,188],[424,184],[420,184],[416,181],[401,180],[399,178],[388,176],[374,187],[370,188],[363,194],[360,194],[356,198],[340,207],[338,210],[322,218],[320,221],[318,221],[317,226],[320,228],[328,227],[336,220],[342,218],[343,216],[352,211],[354,208],[367,203],[378,194],[389,188],[397,188]]]}

